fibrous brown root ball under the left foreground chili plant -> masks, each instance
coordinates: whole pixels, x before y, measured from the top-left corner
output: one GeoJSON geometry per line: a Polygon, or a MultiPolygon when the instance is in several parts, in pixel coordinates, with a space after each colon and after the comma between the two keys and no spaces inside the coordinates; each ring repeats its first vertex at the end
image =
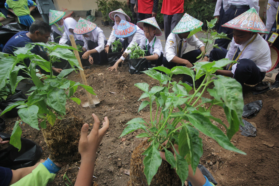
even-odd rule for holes
{"type": "Polygon", "coordinates": [[[66,110],[64,119],[56,119],[53,126],[47,122],[42,129],[44,141],[51,152],[49,158],[56,163],[77,162],[81,159],[78,153],[78,142],[81,136],[83,119],[66,110]]]}

